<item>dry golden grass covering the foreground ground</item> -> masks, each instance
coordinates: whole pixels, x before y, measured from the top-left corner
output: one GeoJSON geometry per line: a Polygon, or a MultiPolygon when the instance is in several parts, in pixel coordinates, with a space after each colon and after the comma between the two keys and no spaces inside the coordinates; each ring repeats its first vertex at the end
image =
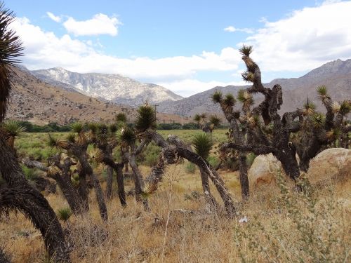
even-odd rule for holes
{"type": "MultiPolygon", "coordinates": [[[[261,189],[249,202],[238,203],[239,217],[230,220],[207,213],[202,198],[185,200],[184,194],[201,193],[201,182],[198,171],[188,174],[183,166],[168,168],[161,188],[150,196],[150,213],[131,196],[121,208],[114,196],[107,204],[109,221],[103,224],[91,193],[88,215],[62,222],[73,262],[347,262],[350,180],[310,195],[261,189]],[[243,216],[249,222],[239,223],[243,216]],[[324,244],[331,243],[329,250],[323,250],[319,239],[309,241],[308,231],[324,244]],[[326,260],[322,250],[329,253],[326,260]]],[[[144,174],[149,169],[142,167],[144,174]]],[[[237,173],[221,176],[240,200],[237,173]]],[[[126,188],[131,186],[127,181],[126,188]]],[[[282,189],[289,187],[283,184],[282,189]]],[[[215,189],[213,193],[218,198],[215,189]]],[[[55,211],[67,206],[60,193],[46,198],[55,211]]],[[[47,262],[39,232],[22,215],[1,220],[0,240],[13,262],[47,262]]]]}

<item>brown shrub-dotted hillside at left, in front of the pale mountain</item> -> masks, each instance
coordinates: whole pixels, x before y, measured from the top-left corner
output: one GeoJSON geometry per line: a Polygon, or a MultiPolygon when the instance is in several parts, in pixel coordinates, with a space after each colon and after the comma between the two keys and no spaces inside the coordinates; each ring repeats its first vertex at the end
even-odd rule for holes
{"type": "MultiPolygon", "coordinates": [[[[45,83],[33,76],[25,67],[13,68],[11,76],[13,89],[8,104],[7,119],[31,121],[42,125],[50,122],[60,124],[73,121],[110,122],[119,112],[127,114],[133,120],[136,109],[104,102],[88,97],[76,90],[45,83]]],[[[184,123],[185,118],[173,114],[157,114],[161,122],[184,123]]]]}

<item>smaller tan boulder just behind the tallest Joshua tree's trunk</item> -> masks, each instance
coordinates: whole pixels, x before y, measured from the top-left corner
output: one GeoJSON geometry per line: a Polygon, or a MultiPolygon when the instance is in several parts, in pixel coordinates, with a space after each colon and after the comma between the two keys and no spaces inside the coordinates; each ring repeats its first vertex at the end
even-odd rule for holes
{"type": "Polygon", "coordinates": [[[257,156],[248,173],[251,189],[262,184],[274,184],[278,171],[282,171],[282,164],[273,154],[257,156]]]}

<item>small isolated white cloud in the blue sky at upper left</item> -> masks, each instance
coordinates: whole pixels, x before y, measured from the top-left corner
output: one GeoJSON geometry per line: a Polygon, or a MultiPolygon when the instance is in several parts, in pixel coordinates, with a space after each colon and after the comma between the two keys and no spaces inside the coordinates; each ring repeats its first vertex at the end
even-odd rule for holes
{"type": "Polygon", "coordinates": [[[74,18],[68,18],[63,22],[63,26],[67,29],[67,32],[75,36],[96,36],[99,34],[117,36],[118,25],[121,25],[121,22],[117,18],[110,18],[102,13],[94,15],[89,20],[77,21],[74,18]]]}

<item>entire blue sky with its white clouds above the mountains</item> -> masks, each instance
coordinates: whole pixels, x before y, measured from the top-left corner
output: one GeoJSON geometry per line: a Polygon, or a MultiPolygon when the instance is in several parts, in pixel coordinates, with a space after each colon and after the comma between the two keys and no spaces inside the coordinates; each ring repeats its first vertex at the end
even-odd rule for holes
{"type": "Polygon", "coordinates": [[[29,69],[119,73],[183,96],[242,83],[253,44],[264,81],[351,58],[351,1],[6,1],[29,69]],[[249,3],[249,4],[248,4],[249,3]]]}

